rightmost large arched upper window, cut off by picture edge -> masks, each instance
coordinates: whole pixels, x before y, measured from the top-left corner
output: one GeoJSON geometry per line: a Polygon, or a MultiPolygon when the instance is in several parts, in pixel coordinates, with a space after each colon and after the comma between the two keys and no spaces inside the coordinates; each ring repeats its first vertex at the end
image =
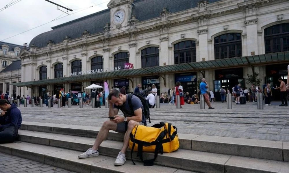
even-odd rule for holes
{"type": "Polygon", "coordinates": [[[265,53],[289,51],[289,23],[264,29],[265,53]]]}

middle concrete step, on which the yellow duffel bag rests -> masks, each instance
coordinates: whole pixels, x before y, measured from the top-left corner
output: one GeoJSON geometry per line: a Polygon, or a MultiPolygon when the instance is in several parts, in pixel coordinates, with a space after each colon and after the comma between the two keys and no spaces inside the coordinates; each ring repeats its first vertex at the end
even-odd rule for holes
{"type": "MultiPolygon", "coordinates": [[[[45,149],[45,152],[50,152],[53,149],[59,150],[60,148],[67,148],[73,151],[78,150],[79,152],[76,152],[77,154],[75,153],[74,156],[76,158],[77,155],[81,154],[81,151],[86,151],[87,148],[90,148],[95,140],[93,138],[27,130],[19,130],[19,139],[24,142],[24,146],[26,145],[25,142],[29,141],[37,143],[33,145],[39,146],[38,144],[43,144],[47,145],[44,147],[52,147],[50,150],[45,149]]],[[[105,140],[99,147],[100,154],[108,157],[113,157],[114,159],[117,156],[118,152],[121,150],[122,144],[123,142],[105,140]]],[[[5,150],[5,148],[3,148],[1,145],[0,149],[5,150]]],[[[12,148],[12,151],[13,149],[14,148],[12,148]]],[[[38,149],[35,150],[38,151],[38,149]]],[[[126,155],[127,159],[130,159],[129,150],[127,150],[126,155]]],[[[144,153],[144,159],[151,159],[153,158],[153,155],[153,153],[144,153]]],[[[133,156],[134,160],[139,160],[138,158],[136,158],[136,152],[134,152],[133,156]]],[[[138,164],[142,165],[142,163],[138,164]]],[[[179,149],[178,151],[175,151],[173,153],[164,153],[163,155],[159,154],[157,159],[155,160],[155,164],[175,169],[208,173],[288,173],[289,169],[288,162],[224,155],[218,153],[208,153],[202,151],[192,151],[186,149],[179,149]]]]}

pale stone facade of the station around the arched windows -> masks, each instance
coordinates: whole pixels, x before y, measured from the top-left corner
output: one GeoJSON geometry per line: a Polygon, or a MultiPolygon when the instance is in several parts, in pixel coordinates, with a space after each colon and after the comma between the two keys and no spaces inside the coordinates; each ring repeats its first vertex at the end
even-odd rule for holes
{"type": "MultiPolygon", "coordinates": [[[[119,9],[130,14],[132,2],[110,1],[110,14],[113,15],[119,9]]],[[[75,60],[81,60],[82,71],[90,71],[91,59],[95,56],[103,57],[104,72],[114,71],[114,55],[119,52],[129,52],[129,63],[134,64],[135,69],[141,68],[141,50],[148,47],[158,47],[160,66],[172,65],[174,45],[186,40],[196,42],[196,61],[214,60],[214,37],[225,33],[241,34],[242,56],[265,54],[264,29],[288,23],[288,8],[286,0],[200,1],[198,7],[176,13],[170,13],[169,9],[164,8],[160,11],[160,17],[141,22],[135,16],[126,15],[123,23],[115,24],[111,16],[110,24],[103,26],[102,33],[90,34],[89,31],[84,31],[76,39],[66,37],[61,43],[47,40],[46,47],[32,45],[29,50],[22,51],[21,80],[39,80],[38,70],[44,65],[47,66],[47,79],[52,79],[54,65],[60,62],[63,63],[63,77],[68,77],[71,75],[71,63],[75,60]]],[[[246,78],[247,73],[252,72],[251,67],[241,67],[243,78],[246,78]]],[[[255,67],[255,71],[260,73],[262,80],[266,76],[264,65],[255,67]]],[[[197,78],[202,77],[200,74],[197,72],[197,78]]],[[[215,69],[205,70],[204,74],[213,89],[215,69]]],[[[159,75],[160,92],[167,92],[175,85],[174,72],[159,75]]],[[[133,87],[141,83],[141,80],[141,77],[129,80],[129,91],[133,91],[133,87]]],[[[110,87],[114,85],[113,79],[107,79],[107,82],[110,87]]],[[[88,85],[90,81],[84,82],[84,86],[88,85]]],[[[71,88],[68,83],[64,86],[71,88]]],[[[52,85],[48,86],[50,91],[52,88],[52,85]]],[[[21,94],[31,95],[31,89],[21,91],[24,92],[21,94]]],[[[39,92],[37,87],[34,92],[39,92]]]]}

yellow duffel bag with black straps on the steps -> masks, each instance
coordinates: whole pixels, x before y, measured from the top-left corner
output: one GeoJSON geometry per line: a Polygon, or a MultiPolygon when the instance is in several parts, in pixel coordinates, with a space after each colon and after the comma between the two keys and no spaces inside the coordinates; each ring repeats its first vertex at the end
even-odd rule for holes
{"type": "MultiPolygon", "coordinates": [[[[137,125],[129,134],[129,148],[131,149],[131,160],[133,151],[137,151],[137,157],[144,162],[145,166],[153,165],[158,153],[171,153],[179,149],[179,137],[177,127],[171,123],[160,122],[151,127],[137,125]],[[142,152],[154,152],[154,159],[143,160],[142,152]]],[[[134,163],[135,165],[135,163],[134,163]]]]}

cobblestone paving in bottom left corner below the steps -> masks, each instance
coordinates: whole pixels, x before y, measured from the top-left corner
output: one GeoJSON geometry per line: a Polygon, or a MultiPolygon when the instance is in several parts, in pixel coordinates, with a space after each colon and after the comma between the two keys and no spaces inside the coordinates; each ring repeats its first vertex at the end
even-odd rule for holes
{"type": "Polygon", "coordinates": [[[0,153],[0,173],[77,173],[37,161],[0,153]]]}

